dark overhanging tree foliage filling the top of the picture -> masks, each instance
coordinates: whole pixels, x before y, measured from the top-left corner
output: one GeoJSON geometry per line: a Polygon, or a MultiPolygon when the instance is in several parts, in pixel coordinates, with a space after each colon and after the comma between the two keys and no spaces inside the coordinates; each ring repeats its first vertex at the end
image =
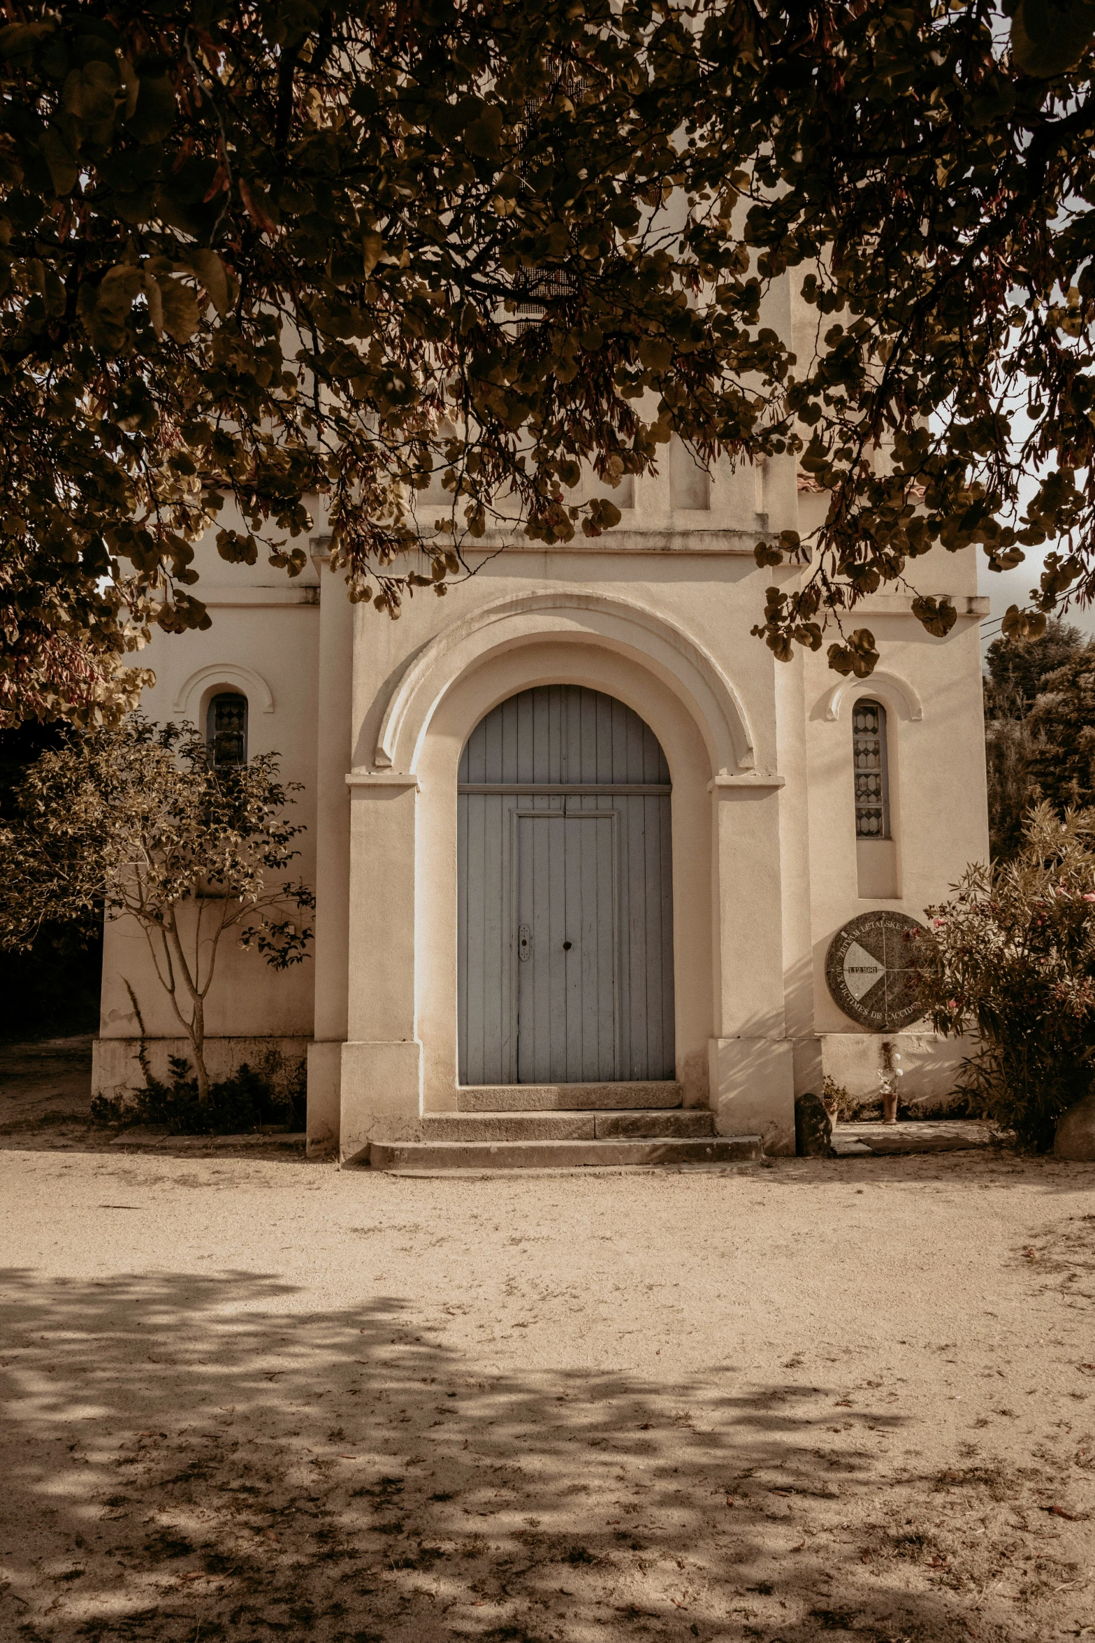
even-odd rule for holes
{"type": "Polygon", "coordinates": [[[671,432],[831,493],[811,544],[757,549],[781,659],[836,614],[831,664],[868,674],[842,613],[883,585],[946,634],[937,547],[1049,541],[1039,611],[1090,595],[1088,12],[1024,3],[1015,53],[977,0],[10,12],[0,710],[133,700],[149,623],[208,619],[208,529],[294,573],[320,495],[394,613],[504,498],[534,539],[599,534],[583,472],[671,432]],[[760,324],[788,271],[798,360],[760,324]],[[433,473],[447,509],[415,506],[433,473]]]}

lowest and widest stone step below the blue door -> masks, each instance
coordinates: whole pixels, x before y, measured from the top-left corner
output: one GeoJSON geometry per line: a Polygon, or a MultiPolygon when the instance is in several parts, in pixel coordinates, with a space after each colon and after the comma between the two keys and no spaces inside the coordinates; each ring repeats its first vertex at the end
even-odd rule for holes
{"type": "Polygon", "coordinates": [[[373,1142],[374,1170],[575,1170],[675,1163],[758,1163],[758,1135],[644,1140],[373,1142]]]}

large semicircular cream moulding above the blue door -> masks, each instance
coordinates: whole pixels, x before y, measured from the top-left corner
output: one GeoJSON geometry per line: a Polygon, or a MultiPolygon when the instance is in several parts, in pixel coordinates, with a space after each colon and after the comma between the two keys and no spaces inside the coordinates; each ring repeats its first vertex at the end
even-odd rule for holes
{"type": "Polygon", "coordinates": [[[745,708],[717,662],[675,623],[606,593],[519,593],[445,628],[396,685],[376,741],[376,769],[415,772],[425,733],[451,685],[499,651],[535,639],[591,641],[635,657],[690,708],[714,774],[754,769],[745,708]]]}

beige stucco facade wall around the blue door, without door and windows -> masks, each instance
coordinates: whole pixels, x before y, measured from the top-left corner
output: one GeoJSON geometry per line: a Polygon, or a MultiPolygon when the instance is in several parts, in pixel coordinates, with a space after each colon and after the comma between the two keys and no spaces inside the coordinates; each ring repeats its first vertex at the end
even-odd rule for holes
{"type": "MultiPolygon", "coordinates": [[[[763,475],[721,465],[711,508],[681,509],[668,467],[635,481],[602,539],[547,550],[486,537],[468,552],[471,577],[443,598],[419,590],[399,621],[348,603],[325,568],[318,514],[299,582],[227,567],[202,547],[199,591],[213,626],[154,641],[146,710],[200,720],[215,687],[243,688],[251,749],[277,748],[286,777],[305,784],[314,958],[282,976],[227,951],[208,1032],[223,1045],[310,1040],[315,1148],[337,1144],[355,1158],[369,1140],[414,1139],[424,1112],[455,1106],[456,764],[483,715],[535,683],[619,697],[665,749],[685,1099],[709,1102],[721,1132],[760,1132],[786,1152],[793,1098],[818,1089],[822,1071],[873,1086],[880,1040],[837,1009],[824,958],[849,918],[882,905],[921,917],[987,853],[974,559],[932,555],[918,583],[954,596],[960,616],[946,639],[916,623],[911,593],[857,608],[850,626],[870,626],[883,652],[862,685],[834,675],[824,651],[778,664],[750,628],[765,587],[799,572],[758,570],[752,549],[763,527],[808,529],[821,499],[799,495],[793,460],[777,458],[763,475]],[[887,895],[867,894],[857,859],[859,693],[888,715],[896,881],[873,874],[875,889],[896,892],[887,895]]],[[[131,1066],[126,979],[161,1048],[177,1037],[143,938],[112,927],[102,1032],[115,1047],[100,1052],[103,1076],[131,1066]]],[[[913,1038],[918,1079],[937,1093],[960,1047],[923,1030],[913,1038]]]]}

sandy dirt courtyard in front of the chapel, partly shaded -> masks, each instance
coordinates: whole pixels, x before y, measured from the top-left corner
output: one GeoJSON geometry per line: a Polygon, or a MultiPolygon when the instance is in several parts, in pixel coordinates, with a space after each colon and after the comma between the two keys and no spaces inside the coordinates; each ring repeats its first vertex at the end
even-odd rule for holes
{"type": "Polygon", "coordinates": [[[1095,1635],[1095,1167],[54,1125],[0,1204],[5,1643],[1095,1635]]]}

